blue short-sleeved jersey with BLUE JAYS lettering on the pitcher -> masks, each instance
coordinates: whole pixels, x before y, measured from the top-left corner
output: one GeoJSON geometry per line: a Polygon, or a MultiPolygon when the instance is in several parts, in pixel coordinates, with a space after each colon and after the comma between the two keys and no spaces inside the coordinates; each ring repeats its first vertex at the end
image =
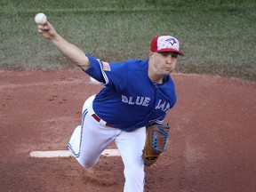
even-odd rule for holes
{"type": "Polygon", "coordinates": [[[97,116],[127,132],[163,124],[177,100],[171,76],[164,76],[164,84],[154,84],[148,77],[148,60],[107,63],[86,56],[91,67],[85,72],[105,85],[93,100],[97,116]]]}

